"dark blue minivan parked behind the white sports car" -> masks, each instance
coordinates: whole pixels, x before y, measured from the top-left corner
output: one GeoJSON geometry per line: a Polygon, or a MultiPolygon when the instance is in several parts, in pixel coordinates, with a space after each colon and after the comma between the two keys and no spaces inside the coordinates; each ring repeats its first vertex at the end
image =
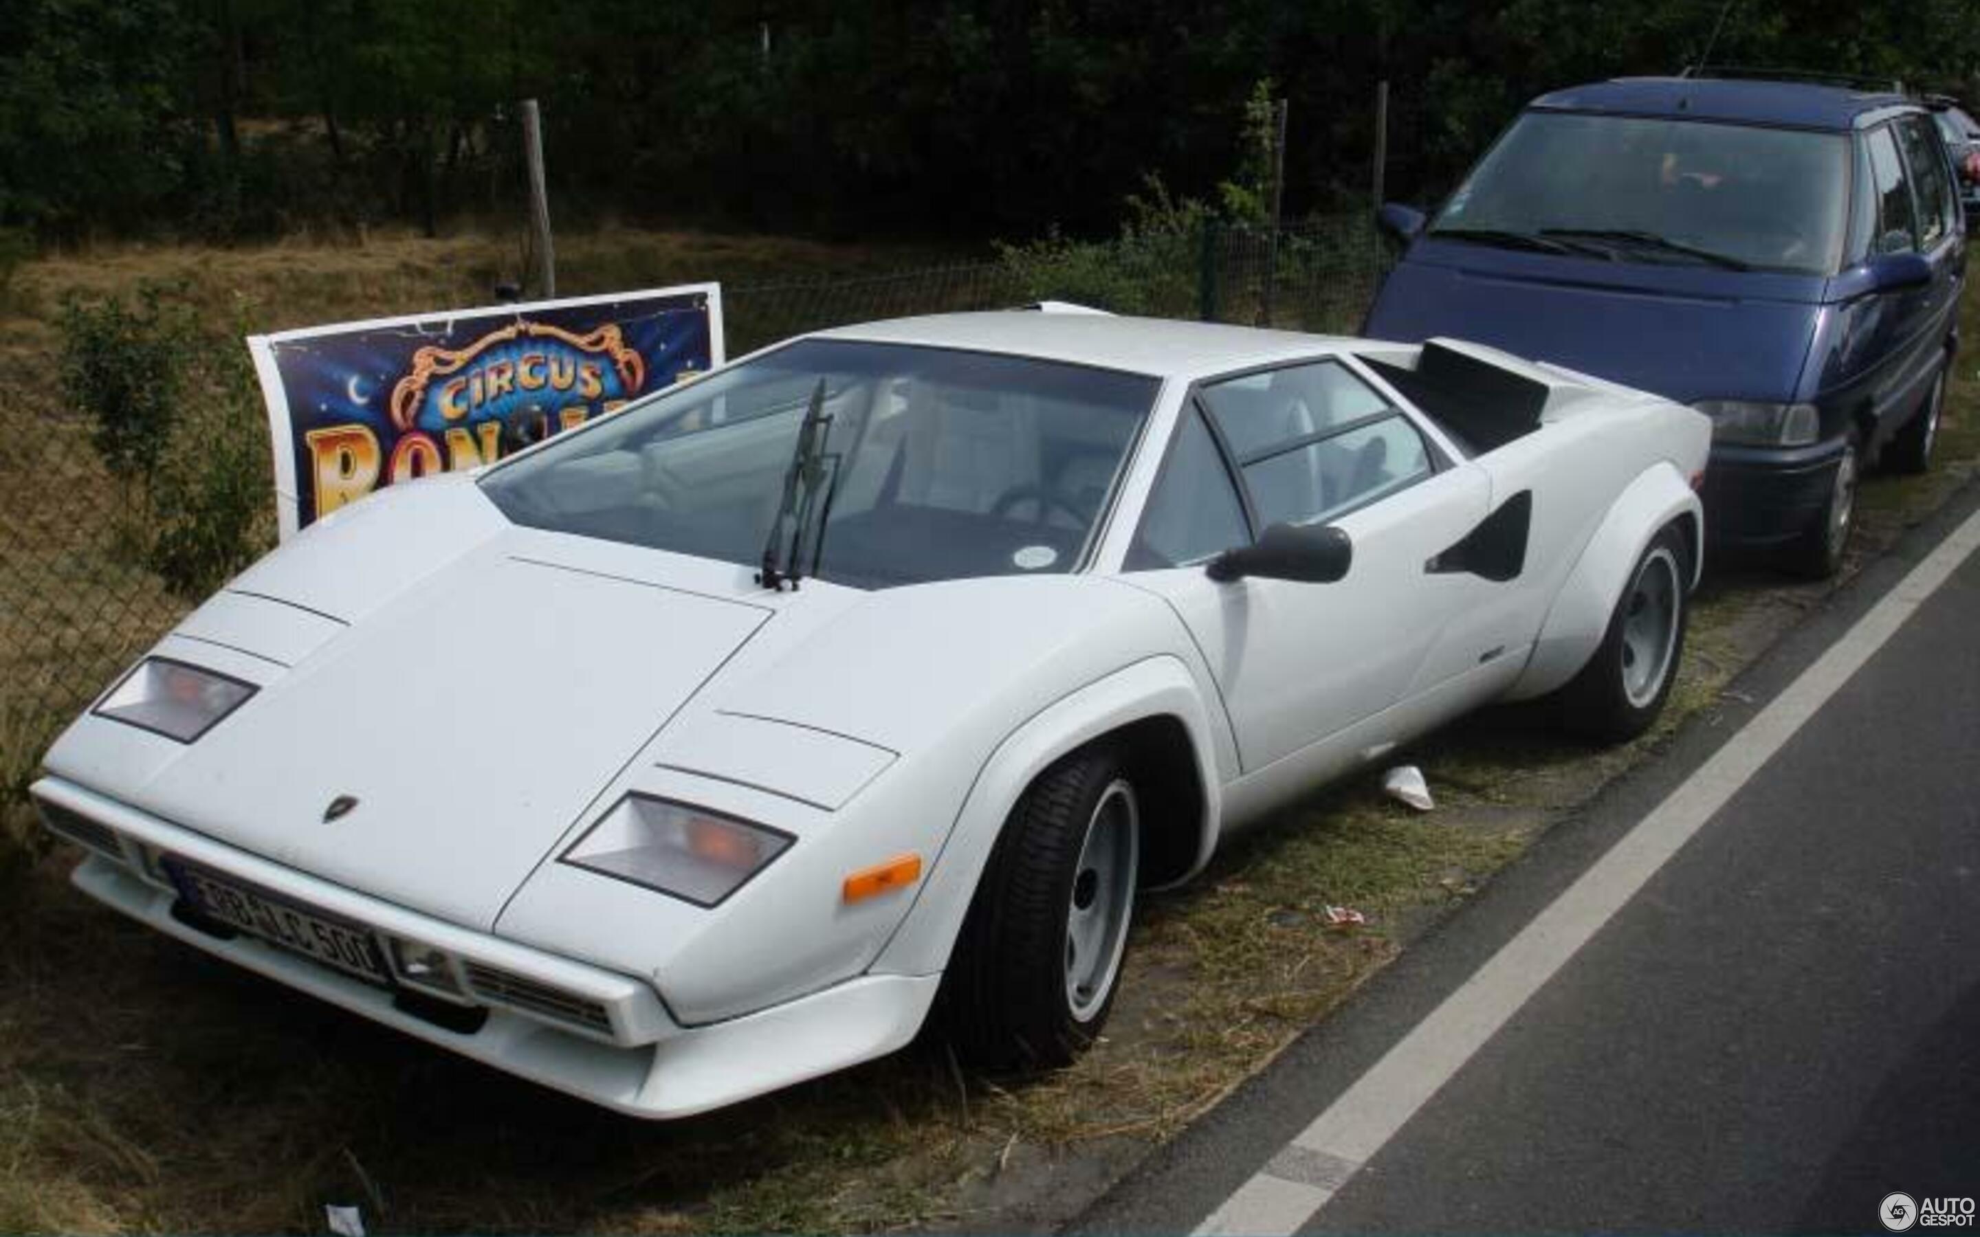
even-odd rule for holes
{"type": "Polygon", "coordinates": [[[1534,99],[1406,241],[1364,334],[1445,334],[1713,418],[1721,546],[1841,564],[1861,469],[1923,471],[1958,346],[1966,226],[1897,93],[1643,77],[1534,99]]]}

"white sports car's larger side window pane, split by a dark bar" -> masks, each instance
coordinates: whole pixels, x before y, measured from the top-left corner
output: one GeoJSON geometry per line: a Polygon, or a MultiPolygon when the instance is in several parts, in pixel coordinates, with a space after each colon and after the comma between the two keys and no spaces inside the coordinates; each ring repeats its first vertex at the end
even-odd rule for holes
{"type": "Polygon", "coordinates": [[[1416,426],[1331,360],[1228,378],[1202,398],[1261,528],[1319,523],[1434,471],[1416,426]]]}

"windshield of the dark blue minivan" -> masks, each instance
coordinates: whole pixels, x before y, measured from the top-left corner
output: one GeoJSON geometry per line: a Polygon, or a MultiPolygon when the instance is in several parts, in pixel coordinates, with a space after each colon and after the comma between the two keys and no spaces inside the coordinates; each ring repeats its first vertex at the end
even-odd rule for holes
{"type": "Polygon", "coordinates": [[[1531,111],[1479,162],[1434,236],[1610,261],[1837,269],[1849,139],[1531,111]]]}

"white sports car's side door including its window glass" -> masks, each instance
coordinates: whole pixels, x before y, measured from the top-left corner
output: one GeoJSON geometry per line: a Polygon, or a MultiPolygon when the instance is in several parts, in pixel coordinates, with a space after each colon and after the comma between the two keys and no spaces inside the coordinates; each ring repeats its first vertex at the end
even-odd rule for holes
{"type": "Polygon", "coordinates": [[[1406,695],[1483,582],[1428,570],[1485,517],[1489,483],[1338,360],[1202,384],[1182,410],[1127,580],[1164,596],[1204,653],[1245,772],[1406,695]],[[1210,580],[1275,523],[1354,542],[1333,584],[1210,580]]]}

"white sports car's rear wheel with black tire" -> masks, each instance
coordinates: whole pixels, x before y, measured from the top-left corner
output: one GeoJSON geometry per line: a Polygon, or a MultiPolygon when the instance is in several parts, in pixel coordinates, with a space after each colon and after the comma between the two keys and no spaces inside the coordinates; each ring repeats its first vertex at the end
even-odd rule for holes
{"type": "Polygon", "coordinates": [[[1624,742],[1657,720],[1685,651],[1689,590],[1691,548],[1675,524],[1665,524],[1630,568],[1602,643],[1556,697],[1566,728],[1624,742]],[[1659,608],[1661,625],[1649,621],[1659,608]]]}

